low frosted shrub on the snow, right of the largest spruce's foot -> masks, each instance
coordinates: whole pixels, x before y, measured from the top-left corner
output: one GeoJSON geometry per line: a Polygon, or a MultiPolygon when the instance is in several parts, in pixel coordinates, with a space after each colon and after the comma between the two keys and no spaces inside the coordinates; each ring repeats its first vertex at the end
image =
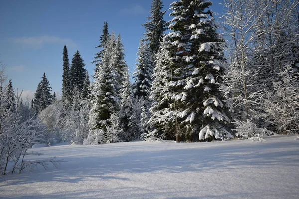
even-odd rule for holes
{"type": "Polygon", "coordinates": [[[234,123],[236,126],[235,129],[232,129],[233,131],[236,131],[235,135],[242,139],[249,139],[252,141],[263,141],[265,135],[268,136],[274,134],[272,131],[269,131],[266,128],[259,128],[250,120],[247,120],[246,122],[236,120],[232,123],[234,123]]]}

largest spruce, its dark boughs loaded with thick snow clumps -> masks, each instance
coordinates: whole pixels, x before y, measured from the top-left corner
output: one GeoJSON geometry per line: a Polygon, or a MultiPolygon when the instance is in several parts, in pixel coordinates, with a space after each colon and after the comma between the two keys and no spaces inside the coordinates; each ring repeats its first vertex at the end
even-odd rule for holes
{"type": "Polygon", "coordinates": [[[212,12],[205,0],[173,2],[174,18],[166,38],[172,42],[170,55],[173,71],[174,103],[178,119],[176,140],[194,141],[212,137],[225,139],[230,119],[226,116],[219,91],[224,72],[223,39],[219,36],[212,12]]]}

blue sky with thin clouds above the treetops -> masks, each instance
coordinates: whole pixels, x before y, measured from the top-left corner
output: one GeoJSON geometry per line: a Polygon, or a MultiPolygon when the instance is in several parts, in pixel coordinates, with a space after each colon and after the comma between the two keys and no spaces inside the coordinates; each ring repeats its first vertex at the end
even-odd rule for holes
{"type": "MultiPolygon", "coordinates": [[[[162,0],[165,20],[173,0],[162,0]]],[[[61,95],[62,52],[69,59],[76,52],[93,74],[95,48],[99,44],[104,21],[109,31],[120,33],[126,61],[135,68],[139,39],[145,32],[141,24],[150,16],[152,0],[5,0],[0,6],[0,60],[13,87],[33,97],[45,72],[53,92],[61,95]]],[[[221,12],[221,0],[213,0],[211,9],[221,12]]],[[[217,17],[217,15],[216,15],[217,17]]]]}

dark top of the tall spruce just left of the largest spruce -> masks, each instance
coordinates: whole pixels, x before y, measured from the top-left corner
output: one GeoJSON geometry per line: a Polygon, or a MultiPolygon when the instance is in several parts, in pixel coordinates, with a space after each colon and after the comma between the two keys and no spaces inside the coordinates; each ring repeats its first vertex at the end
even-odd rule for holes
{"type": "MultiPolygon", "coordinates": [[[[150,21],[142,24],[146,28],[145,39],[149,41],[149,48],[152,55],[155,55],[160,47],[160,42],[163,38],[163,33],[167,29],[167,23],[163,19],[165,11],[161,0],[152,0],[151,16],[147,17],[150,21]]],[[[152,57],[154,59],[154,56],[152,57]]]]}

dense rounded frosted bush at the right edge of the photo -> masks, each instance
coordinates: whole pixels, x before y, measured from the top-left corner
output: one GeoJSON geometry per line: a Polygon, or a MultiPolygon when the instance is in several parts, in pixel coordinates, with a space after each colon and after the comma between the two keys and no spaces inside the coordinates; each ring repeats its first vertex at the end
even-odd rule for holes
{"type": "Polygon", "coordinates": [[[277,133],[291,134],[299,129],[299,71],[287,64],[273,81],[273,91],[267,92],[267,121],[277,133]]]}

